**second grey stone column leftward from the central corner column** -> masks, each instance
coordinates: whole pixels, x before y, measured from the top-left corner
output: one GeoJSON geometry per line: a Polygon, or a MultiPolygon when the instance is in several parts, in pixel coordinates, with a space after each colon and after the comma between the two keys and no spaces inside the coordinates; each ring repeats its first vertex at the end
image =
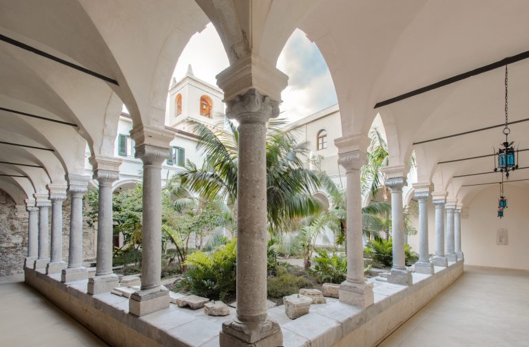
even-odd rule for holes
{"type": "Polygon", "coordinates": [[[90,161],[94,179],[99,183],[96,275],[88,279],[88,294],[96,295],[108,293],[119,285],[118,276],[112,272],[112,184],[119,178],[121,159],[92,157],[90,161]]]}

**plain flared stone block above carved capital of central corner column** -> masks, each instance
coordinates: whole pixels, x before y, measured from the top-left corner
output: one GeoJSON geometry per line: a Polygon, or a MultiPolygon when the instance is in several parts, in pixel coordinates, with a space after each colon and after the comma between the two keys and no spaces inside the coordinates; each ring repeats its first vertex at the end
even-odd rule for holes
{"type": "Polygon", "coordinates": [[[271,100],[281,101],[281,92],[289,81],[289,77],[276,66],[253,54],[231,64],[216,79],[220,89],[224,90],[223,101],[228,104],[251,89],[271,100]]]}

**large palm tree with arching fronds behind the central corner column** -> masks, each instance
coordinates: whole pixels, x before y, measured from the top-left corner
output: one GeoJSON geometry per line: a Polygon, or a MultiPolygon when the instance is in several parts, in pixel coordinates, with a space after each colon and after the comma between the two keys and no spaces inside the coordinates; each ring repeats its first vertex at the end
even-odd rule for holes
{"type": "MultiPolygon", "coordinates": [[[[202,168],[187,161],[179,174],[181,182],[202,197],[225,201],[236,220],[238,130],[229,120],[227,127],[213,129],[196,121],[189,123],[206,159],[202,168]]],[[[334,186],[324,172],[304,167],[307,143],[298,143],[292,132],[282,129],[285,123],[269,121],[267,130],[267,217],[272,235],[287,230],[294,219],[320,212],[312,193],[334,186]]]]}

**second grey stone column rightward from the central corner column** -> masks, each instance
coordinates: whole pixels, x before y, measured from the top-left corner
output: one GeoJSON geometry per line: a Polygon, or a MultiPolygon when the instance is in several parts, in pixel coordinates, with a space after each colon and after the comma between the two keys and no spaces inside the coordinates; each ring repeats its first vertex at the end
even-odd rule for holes
{"type": "Polygon", "coordinates": [[[404,167],[384,168],[386,186],[391,190],[391,232],[393,239],[393,266],[388,274],[388,283],[411,286],[413,278],[406,268],[404,256],[404,213],[402,210],[402,187],[406,186],[404,167]]]}

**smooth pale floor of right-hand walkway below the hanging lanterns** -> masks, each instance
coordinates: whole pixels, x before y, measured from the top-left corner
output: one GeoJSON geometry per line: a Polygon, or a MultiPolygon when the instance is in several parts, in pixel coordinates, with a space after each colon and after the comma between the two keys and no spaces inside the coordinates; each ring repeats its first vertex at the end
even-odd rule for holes
{"type": "Polygon", "coordinates": [[[529,346],[529,272],[465,266],[379,346],[529,346]]]}

